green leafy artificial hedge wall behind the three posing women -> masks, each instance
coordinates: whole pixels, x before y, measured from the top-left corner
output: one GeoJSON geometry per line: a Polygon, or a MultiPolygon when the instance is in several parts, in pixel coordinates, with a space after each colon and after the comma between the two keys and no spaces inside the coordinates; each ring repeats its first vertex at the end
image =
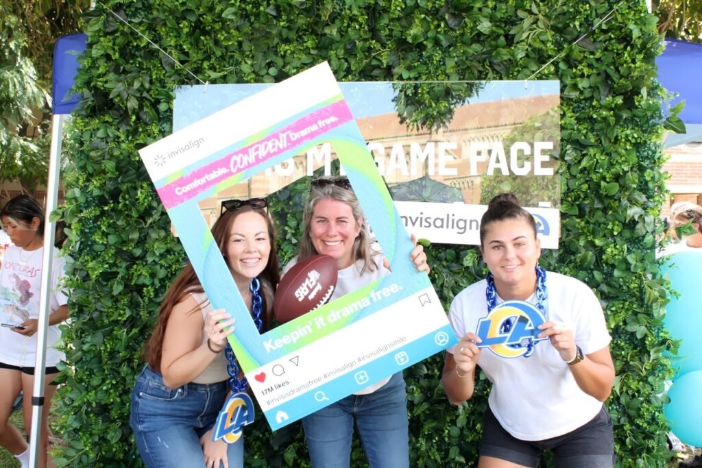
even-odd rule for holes
{"type": "MultiPolygon", "coordinates": [[[[662,328],[667,285],[654,259],[663,202],[656,18],[643,2],[550,0],[105,0],[84,24],[65,178],[72,248],[72,323],[60,389],[62,466],[141,466],[129,394],[159,300],[185,258],[137,150],[171,133],[173,90],[274,82],[328,60],[341,81],[561,81],[562,235],[542,263],[592,286],[605,307],[617,378],[608,401],[619,467],[661,467],[668,455],[663,380],[673,343],[662,328]],[[606,15],[609,20],[594,29],[606,15]],[[582,34],[585,39],[572,44],[582,34]]],[[[300,197],[290,187],[289,199],[300,197]]],[[[289,203],[280,199],[276,203],[289,203]]],[[[297,220],[279,225],[293,250],[297,220]]],[[[477,250],[431,246],[444,304],[484,274],[477,250]]],[[[450,406],[442,356],[406,371],[413,467],[477,460],[487,382],[450,406]]],[[[299,424],[247,430],[247,466],[305,467],[299,424]]],[[[353,466],[364,466],[356,446],[353,466]]]]}

